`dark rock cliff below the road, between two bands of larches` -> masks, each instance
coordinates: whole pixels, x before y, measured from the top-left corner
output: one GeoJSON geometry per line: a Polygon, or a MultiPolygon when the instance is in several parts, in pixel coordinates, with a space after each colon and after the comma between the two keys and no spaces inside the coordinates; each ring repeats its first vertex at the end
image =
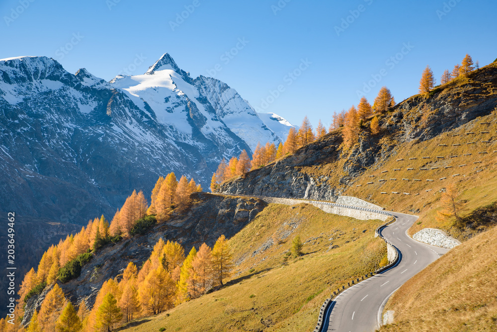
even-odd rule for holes
{"type": "MultiPolygon", "coordinates": [[[[229,239],[267,205],[259,199],[246,197],[208,193],[195,193],[192,197],[194,203],[185,213],[173,215],[169,221],[156,225],[143,236],[125,239],[100,249],[83,266],[78,278],[59,284],[66,297],[76,304],[84,300],[91,307],[103,282],[122,274],[130,261],[141,266],[160,238],[177,241],[185,249],[185,254],[193,246],[198,249],[204,242],[212,248],[221,235],[229,239]]],[[[39,296],[28,300],[23,324],[29,322],[34,308],[40,309],[41,302],[52,287],[47,286],[39,296]]]]}

